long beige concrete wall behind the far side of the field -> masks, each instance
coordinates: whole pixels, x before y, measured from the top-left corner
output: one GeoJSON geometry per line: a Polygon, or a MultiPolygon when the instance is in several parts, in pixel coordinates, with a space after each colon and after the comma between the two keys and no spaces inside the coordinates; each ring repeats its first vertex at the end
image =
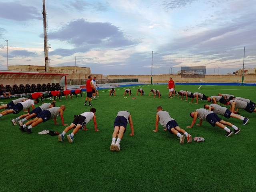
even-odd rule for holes
{"type": "MultiPolygon", "coordinates": [[[[205,78],[181,78],[180,74],[170,75],[170,74],[160,74],[153,75],[153,82],[168,82],[169,78],[175,82],[241,82],[241,75],[206,75],[205,78]]],[[[128,79],[137,78],[139,82],[149,83],[151,82],[151,75],[108,75],[108,79],[128,79]]],[[[255,75],[245,75],[244,82],[256,82],[255,75]]]]}

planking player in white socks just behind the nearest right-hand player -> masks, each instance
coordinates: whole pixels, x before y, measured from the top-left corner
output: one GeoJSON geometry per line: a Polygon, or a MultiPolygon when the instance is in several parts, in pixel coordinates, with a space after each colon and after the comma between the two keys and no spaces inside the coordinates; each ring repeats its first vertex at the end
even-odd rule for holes
{"type": "Polygon", "coordinates": [[[249,121],[248,118],[245,118],[245,117],[240,116],[238,114],[234,114],[230,110],[228,110],[228,108],[222,107],[222,106],[220,106],[218,104],[210,104],[210,105],[205,104],[204,108],[208,109],[209,111],[213,111],[214,113],[216,113],[218,115],[222,115],[222,116],[224,116],[224,117],[226,117],[228,119],[230,117],[233,117],[233,118],[236,118],[236,119],[240,119],[240,120],[243,121],[243,125],[245,125],[249,121]]]}

